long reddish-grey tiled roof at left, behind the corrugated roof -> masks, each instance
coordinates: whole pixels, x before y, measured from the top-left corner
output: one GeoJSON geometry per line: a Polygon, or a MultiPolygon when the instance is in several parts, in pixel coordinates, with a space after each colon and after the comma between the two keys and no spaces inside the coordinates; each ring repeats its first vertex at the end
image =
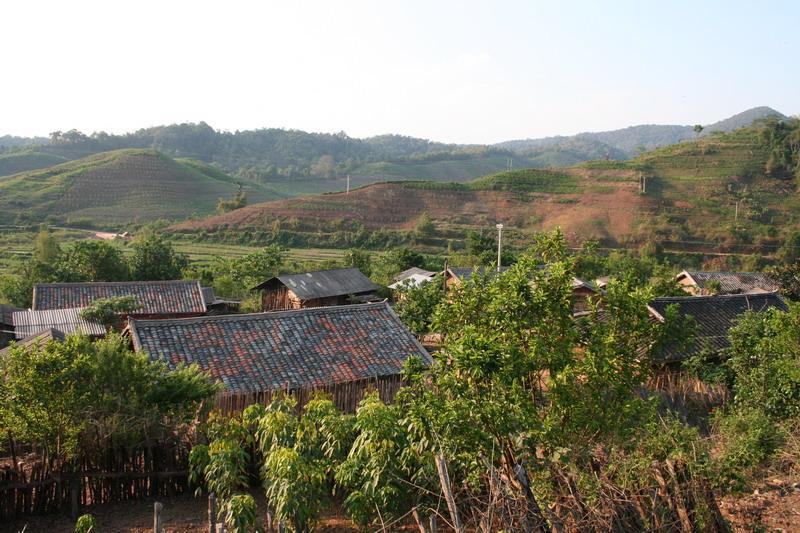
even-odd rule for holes
{"type": "Polygon", "coordinates": [[[134,296],[141,309],[134,315],[183,315],[206,312],[199,281],[123,281],[40,283],[33,289],[33,309],[86,307],[94,300],[134,296]]]}

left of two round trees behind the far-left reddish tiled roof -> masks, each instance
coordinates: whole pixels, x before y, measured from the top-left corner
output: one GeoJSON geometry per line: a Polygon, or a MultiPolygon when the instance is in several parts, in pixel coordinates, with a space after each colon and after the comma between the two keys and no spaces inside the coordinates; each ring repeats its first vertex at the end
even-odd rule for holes
{"type": "Polygon", "coordinates": [[[77,241],[56,265],[60,281],[125,281],[128,264],[122,252],[106,241],[77,241]]]}

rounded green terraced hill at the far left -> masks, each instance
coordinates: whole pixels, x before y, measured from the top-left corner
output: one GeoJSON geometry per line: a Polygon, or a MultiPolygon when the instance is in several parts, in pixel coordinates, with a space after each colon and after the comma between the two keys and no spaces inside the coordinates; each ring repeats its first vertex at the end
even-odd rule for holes
{"type": "MultiPolygon", "coordinates": [[[[182,220],[213,213],[217,200],[234,196],[240,181],[205,163],[176,161],[154,150],[104,152],[0,178],[0,223],[115,227],[182,220]]],[[[250,201],[278,197],[264,186],[244,185],[250,201]]]]}

